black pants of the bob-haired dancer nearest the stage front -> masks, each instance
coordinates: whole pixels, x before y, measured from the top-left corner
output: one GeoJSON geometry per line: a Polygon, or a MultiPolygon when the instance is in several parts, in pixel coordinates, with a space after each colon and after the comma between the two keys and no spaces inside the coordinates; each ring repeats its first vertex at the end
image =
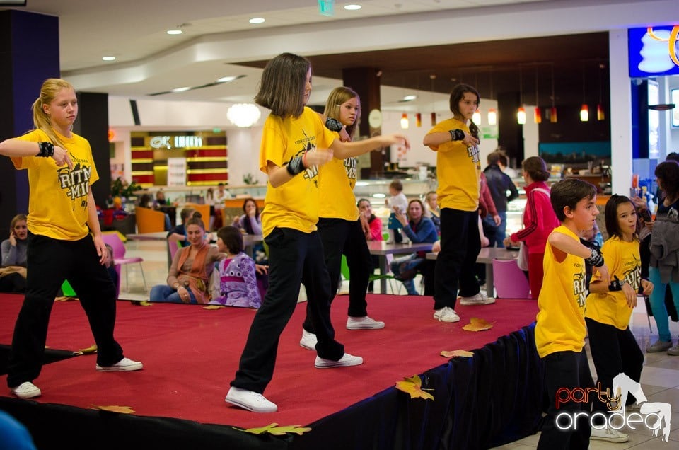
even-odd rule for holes
{"type": "Polygon", "coordinates": [[[297,306],[300,283],[306,287],[311,306],[318,356],[337,361],[344,355],[344,346],[335,340],[330,323],[330,276],[318,233],[276,228],[265,242],[269,246],[269,289],[250,325],[236,379],[231,381],[231,386],[258,393],[264,392],[274,374],[278,342],[297,306]]]}

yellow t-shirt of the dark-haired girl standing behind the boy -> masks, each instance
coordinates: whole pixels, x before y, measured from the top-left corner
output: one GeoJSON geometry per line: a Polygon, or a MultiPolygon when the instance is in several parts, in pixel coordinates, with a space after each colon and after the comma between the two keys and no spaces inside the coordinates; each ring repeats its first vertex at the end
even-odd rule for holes
{"type": "MultiPolygon", "coordinates": [[[[642,262],[639,257],[639,241],[625,242],[618,237],[608,239],[601,247],[601,254],[608,266],[610,279],[620,279],[634,289],[639,290],[642,282],[642,262]]],[[[600,279],[597,272],[592,281],[600,279]]],[[[587,296],[587,311],[585,317],[598,323],[613,325],[620,330],[627,329],[632,308],[627,306],[625,294],[622,291],[605,292],[604,294],[589,294],[587,296]]]]}

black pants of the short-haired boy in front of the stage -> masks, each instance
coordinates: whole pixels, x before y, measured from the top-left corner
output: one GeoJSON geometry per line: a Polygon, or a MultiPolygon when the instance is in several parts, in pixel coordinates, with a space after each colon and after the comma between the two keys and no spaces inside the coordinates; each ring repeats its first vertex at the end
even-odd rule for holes
{"type": "Polygon", "coordinates": [[[579,403],[564,400],[567,396],[563,389],[572,392],[574,388],[591,388],[593,386],[592,376],[589,372],[587,354],[583,349],[581,352],[555,352],[542,358],[545,362],[545,385],[547,386],[547,396],[549,397],[549,407],[545,423],[542,425],[542,434],[538,442],[538,449],[587,449],[589,446],[589,415],[579,417],[575,425],[569,422],[578,412],[589,412],[590,403],[579,403]],[[562,399],[557,408],[557,391],[560,391],[559,398],[562,399]],[[564,417],[559,418],[559,425],[568,429],[559,429],[555,420],[557,416],[564,413],[564,417]],[[568,418],[569,417],[569,418],[568,418]]]}

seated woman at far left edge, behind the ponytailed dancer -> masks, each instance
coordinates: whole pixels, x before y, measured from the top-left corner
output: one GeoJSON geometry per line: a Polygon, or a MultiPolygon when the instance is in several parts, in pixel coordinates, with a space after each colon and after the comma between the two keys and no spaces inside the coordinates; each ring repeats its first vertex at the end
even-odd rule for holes
{"type": "Polygon", "coordinates": [[[9,225],[9,238],[2,241],[0,292],[25,292],[28,226],[26,215],[17,214],[9,225]]]}

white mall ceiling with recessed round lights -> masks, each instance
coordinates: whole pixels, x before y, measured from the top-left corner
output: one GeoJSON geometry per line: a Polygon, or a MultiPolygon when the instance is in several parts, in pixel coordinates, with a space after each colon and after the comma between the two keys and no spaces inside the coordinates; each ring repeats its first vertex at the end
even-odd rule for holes
{"type": "MultiPolygon", "coordinates": [[[[142,98],[173,88],[203,86],[222,76],[245,75],[233,83],[154,97],[236,103],[252,100],[261,69],[231,63],[269,59],[279,53],[272,50],[274,47],[298,51],[289,38],[280,42],[282,38],[277,38],[280,30],[289,33],[291,29],[332,26],[337,30],[337,42],[327,42],[326,46],[326,52],[332,53],[342,47],[342,30],[358,21],[547,1],[555,0],[338,1],[334,16],[320,15],[317,0],[28,0],[27,6],[16,9],[59,17],[62,77],[78,89],[142,98]],[[362,8],[345,11],[343,6],[349,3],[360,4],[362,8]],[[253,17],[265,18],[266,22],[252,25],[248,19],[253,17]],[[173,28],[181,29],[182,35],[166,33],[173,28]],[[255,48],[248,43],[252,37],[267,39],[264,45],[255,48]],[[233,45],[233,41],[239,40],[243,40],[243,45],[237,54],[220,54],[219,50],[211,54],[224,42],[233,45]],[[104,62],[103,56],[115,56],[116,60],[104,62]]],[[[378,42],[374,48],[368,42],[363,50],[378,47],[378,42]]],[[[311,101],[324,103],[327,91],[338,84],[341,81],[315,79],[315,96],[311,101]]],[[[404,95],[402,88],[385,88],[383,103],[398,103],[404,95]]],[[[431,96],[427,100],[431,101],[431,96]]]]}

